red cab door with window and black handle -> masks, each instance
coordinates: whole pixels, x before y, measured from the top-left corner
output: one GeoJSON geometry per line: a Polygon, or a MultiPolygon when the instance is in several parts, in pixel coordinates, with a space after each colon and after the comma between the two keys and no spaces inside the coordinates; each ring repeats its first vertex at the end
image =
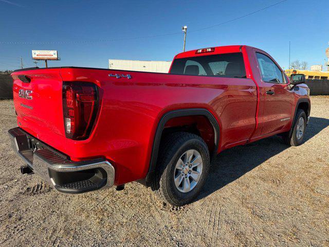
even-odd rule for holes
{"type": "Polygon", "coordinates": [[[281,68],[270,57],[256,52],[262,75],[261,94],[264,96],[262,135],[287,129],[294,109],[294,93],[281,68]]]}

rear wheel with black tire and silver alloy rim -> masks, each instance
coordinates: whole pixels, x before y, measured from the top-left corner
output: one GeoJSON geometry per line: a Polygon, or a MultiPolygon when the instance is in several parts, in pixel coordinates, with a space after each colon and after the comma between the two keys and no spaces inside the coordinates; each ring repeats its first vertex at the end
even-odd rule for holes
{"type": "Polygon", "coordinates": [[[151,188],[165,203],[173,206],[191,203],[204,186],[209,167],[209,150],[202,138],[187,132],[170,134],[160,144],[151,188]]]}

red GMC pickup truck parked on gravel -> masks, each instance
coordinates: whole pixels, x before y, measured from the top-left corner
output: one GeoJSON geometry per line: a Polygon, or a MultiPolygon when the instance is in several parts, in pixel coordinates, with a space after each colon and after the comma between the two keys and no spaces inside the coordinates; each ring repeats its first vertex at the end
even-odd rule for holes
{"type": "Polygon", "coordinates": [[[53,67],[11,76],[18,127],[9,135],[22,173],[69,193],[139,181],[176,206],[196,198],[224,149],[276,134],[300,145],[310,112],[305,77],[290,81],[245,45],[182,52],[168,74],[53,67]]]}

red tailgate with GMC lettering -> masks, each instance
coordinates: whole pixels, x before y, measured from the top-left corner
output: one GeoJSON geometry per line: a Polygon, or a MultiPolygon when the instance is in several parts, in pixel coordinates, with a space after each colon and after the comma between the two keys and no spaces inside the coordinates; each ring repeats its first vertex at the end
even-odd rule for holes
{"type": "Polygon", "coordinates": [[[56,148],[66,141],[60,68],[12,74],[17,125],[56,148]]]}

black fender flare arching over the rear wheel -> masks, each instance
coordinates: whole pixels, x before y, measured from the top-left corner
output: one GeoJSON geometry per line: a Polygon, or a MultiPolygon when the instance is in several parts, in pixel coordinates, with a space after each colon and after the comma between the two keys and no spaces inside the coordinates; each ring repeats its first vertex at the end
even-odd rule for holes
{"type": "Polygon", "coordinates": [[[168,120],[170,120],[174,117],[196,116],[196,115],[206,116],[208,118],[208,120],[210,121],[210,123],[214,129],[214,133],[215,133],[215,138],[214,138],[214,147],[215,148],[214,148],[213,155],[216,154],[218,145],[220,142],[220,126],[218,125],[216,118],[212,115],[212,113],[210,111],[208,111],[207,109],[203,109],[203,108],[189,108],[189,109],[179,109],[179,110],[173,110],[173,111],[166,112],[165,114],[162,115],[161,119],[159,120],[157,128],[156,128],[156,132],[154,135],[149,171],[145,178],[145,182],[146,182],[147,186],[149,186],[150,183],[152,182],[153,175],[156,170],[156,162],[157,162],[157,157],[158,157],[158,152],[159,152],[162,131],[165,128],[165,125],[168,122],[168,120]]]}

